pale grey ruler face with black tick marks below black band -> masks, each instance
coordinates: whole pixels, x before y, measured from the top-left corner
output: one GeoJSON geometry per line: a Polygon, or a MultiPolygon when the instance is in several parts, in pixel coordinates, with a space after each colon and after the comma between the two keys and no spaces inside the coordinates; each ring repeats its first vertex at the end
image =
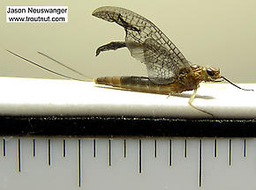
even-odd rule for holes
{"type": "Polygon", "coordinates": [[[254,138],[3,136],[1,141],[1,190],[256,187],[254,138]]]}

